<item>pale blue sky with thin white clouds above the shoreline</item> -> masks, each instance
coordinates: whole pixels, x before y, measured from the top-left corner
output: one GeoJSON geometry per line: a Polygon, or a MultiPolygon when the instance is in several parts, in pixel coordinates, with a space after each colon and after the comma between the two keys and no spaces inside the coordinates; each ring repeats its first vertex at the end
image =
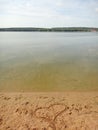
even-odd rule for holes
{"type": "Polygon", "coordinates": [[[98,0],[0,0],[0,27],[98,27],[98,0]]]}

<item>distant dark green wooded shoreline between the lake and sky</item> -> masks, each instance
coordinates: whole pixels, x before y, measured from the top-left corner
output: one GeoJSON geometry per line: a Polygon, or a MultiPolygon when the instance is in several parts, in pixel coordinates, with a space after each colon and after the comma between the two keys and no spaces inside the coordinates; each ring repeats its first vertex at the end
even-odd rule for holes
{"type": "Polygon", "coordinates": [[[33,28],[13,27],[0,28],[0,32],[98,32],[98,28],[89,27],[57,27],[57,28],[33,28]]]}

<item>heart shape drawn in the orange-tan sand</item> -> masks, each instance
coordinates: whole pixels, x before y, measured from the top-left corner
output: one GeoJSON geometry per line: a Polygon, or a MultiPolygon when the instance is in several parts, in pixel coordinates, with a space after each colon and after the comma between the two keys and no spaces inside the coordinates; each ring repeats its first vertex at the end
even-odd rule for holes
{"type": "Polygon", "coordinates": [[[65,104],[54,103],[49,105],[48,107],[36,108],[34,111],[34,115],[36,118],[42,119],[45,122],[47,122],[49,124],[49,129],[52,128],[53,130],[56,130],[55,120],[67,109],[68,107],[65,106],[65,104]]]}

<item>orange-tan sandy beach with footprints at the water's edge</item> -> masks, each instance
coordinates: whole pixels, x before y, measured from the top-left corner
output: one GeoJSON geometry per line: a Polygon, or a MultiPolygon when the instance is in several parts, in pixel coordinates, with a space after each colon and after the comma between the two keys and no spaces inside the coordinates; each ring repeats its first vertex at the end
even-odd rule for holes
{"type": "Polygon", "coordinates": [[[0,93],[0,130],[98,130],[98,92],[0,93]]]}

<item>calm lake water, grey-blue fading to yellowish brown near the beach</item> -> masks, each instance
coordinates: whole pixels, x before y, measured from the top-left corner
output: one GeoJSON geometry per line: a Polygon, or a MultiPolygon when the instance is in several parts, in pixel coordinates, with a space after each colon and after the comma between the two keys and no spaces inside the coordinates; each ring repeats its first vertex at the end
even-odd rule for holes
{"type": "Polygon", "coordinates": [[[0,32],[0,91],[98,90],[98,33],[0,32]]]}

